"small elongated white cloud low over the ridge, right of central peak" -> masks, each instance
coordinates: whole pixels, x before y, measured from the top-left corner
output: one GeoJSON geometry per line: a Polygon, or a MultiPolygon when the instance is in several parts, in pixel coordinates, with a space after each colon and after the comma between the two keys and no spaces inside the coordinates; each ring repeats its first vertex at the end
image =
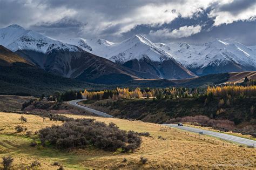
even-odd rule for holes
{"type": "Polygon", "coordinates": [[[184,37],[190,37],[191,35],[194,35],[196,33],[199,33],[201,31],[201,26],[182,26],[179,29],[175,30],[168,30],[168,29],[163,29],[163,30],[157,30],[157,31],[150,31],[149,35],[151,37],[157,37],[157,38],[184,38],[184,37]]]}

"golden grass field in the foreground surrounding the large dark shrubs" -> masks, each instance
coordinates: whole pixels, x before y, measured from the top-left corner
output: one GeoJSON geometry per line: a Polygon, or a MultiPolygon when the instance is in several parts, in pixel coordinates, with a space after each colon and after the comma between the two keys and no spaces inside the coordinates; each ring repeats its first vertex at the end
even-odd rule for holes
{"type": "MultiPolygon", "coordinates": [[[[43,127],[61,125],[61,122],[43,121],[35,115],[23,115],[28,123],[23,126],[28,131],[37,131],[43,127]]],[[[31,138],[25,133],[15,133],[14,127],[22,125],[18,120],[21,114],[0,112],[0,157],[11,156],[15,159],[14,169],[32,161],[41,162],[41,169],[57,169],[53,162],[60,162],[65,169],[253,169],[256,168],[255,148],[212,144],[197,138],[176,132],[174,129],[161,132],[160,127],[138,121],[116,118],[100,118],[69,115],[73,118],[95,118],[105,123],[113,122],[123,130],[150,132],[151,137],[142,137],[142,146],[134,153],[112,153],[100,149],[86,148],[72,151],[58,151],[49,147],[30,147],[31,138]],[[166,140],[158,139],[161,135],[166,140]],[[140,157],[147,158],[146,164],[140,157]],[[123,159],[127,161],[124,162],[123,159]]],[[[205,137],[213,139],[211,137],[205,137]]],[[[214,139],[218,140],[218,139],[214,139]]],[[[219,140],[223,143],[223,141],[219,140]]],[[[2,159],[0,159],[2,162],[2,159]]],[[[2,165],[0,165],[0,169],[2,165]]]]}

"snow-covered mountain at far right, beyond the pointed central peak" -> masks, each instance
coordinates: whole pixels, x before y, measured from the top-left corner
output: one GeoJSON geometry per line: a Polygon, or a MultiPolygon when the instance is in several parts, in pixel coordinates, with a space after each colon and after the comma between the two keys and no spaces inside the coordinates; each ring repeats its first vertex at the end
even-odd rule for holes
{"type": "MultiPolygon", "coordinates": [[[[205,69],[206,67],[237,67],[239,71],[255,70],[256,54],[239,42],[231,39],[216,39],[202,45],[187,43],[156,43],[158,47],[171,53],[176,59],[189,69],[205,69]],[[232,65],[232,66],[231,66],[232,65]]],[[[231,69],[231,70],[232,70],[231,69]]],[[[235,71],[235,70],[234,70],[235,71]]],[[[214,73],[214,72],[213,72],[214,73]]]]}

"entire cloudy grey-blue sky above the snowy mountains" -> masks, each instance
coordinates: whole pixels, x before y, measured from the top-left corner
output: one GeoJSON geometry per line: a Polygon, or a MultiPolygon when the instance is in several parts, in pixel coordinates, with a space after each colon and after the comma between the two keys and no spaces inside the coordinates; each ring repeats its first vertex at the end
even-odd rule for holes
{"type": "Polygon", "coordinates": [[[256,45],[255,0],[0,0],[0,27],[19,24],[65,39],[202,43],[232,38],[256,45]]]}

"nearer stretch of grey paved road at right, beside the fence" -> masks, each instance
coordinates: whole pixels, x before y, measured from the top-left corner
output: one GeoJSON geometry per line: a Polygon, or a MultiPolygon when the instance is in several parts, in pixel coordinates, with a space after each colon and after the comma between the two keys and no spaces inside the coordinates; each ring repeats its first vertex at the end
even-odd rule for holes
{"type": "Polygon", "coordinates": [[[201,132],[203,132],[203,134],[211,135],[213,137],[217,137],[217,138],[220,138],[220,139],[237,142],[239,144],[244,144],[244,145],[247,145],[247,146],[254,146],[254,147],[256,147],[256,141],[255,140],[235,137],[234,135],[230,135],[230,134],[214,132],[214,131],[208,131],[208,130],[202,130],[200,128],[189,127],[189,126],[178,126],[178,124],[164,124],[164,125],[170,126],[170,127],[179,128],[181,130],[195,132],[195,133],[199,133],[201,131],[201,132]]]}

